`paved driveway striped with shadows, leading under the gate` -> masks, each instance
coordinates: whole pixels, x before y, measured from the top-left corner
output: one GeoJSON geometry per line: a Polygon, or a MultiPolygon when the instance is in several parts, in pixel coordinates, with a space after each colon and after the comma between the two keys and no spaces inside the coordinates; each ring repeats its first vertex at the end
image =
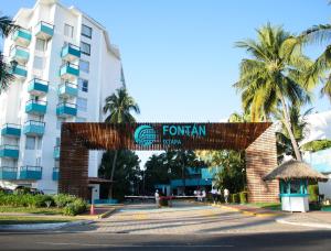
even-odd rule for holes
{"type": "Polygon", "coordinates": [[[153,204],[127,205],[109,218],[67,230],[137,234],[204,234],[312,229],[277,223],[274,217],[254,217],[212,206],[175,203],[172,208],[161,209],[156,208],[153,204]]]}

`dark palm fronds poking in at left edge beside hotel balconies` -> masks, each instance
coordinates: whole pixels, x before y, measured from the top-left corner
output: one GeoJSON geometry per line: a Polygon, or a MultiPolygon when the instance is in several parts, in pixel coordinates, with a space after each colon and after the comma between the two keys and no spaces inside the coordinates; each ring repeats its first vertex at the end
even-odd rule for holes
{"type": "MultiPolygon", "coordinates": [[[[9,17],[0,17],[0,35],[2,37],[8,37],[18,28],[9,17]]],[[[14,76],[10,72],[15,66],[17,62],[11,62],[11,65],[7,64],[2,52],[0,52],[0,94],[7,90],[9,84],[14,79],[14,76]]]]}

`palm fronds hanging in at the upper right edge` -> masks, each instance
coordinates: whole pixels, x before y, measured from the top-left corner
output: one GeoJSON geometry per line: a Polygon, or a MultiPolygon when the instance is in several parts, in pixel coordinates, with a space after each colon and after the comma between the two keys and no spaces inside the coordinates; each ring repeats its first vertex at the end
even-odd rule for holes
{"type": "MultiPolygon", "coordinates": [[[[331,37],[331,24],[320,24],[314,25],[299,36],[301,44],[310,43],[322,43],[329,42],[331,37]]],[[[331,100],[331,44],[327,45],[327,48],[322,54],[316,59],[314,64],[309,70],[309,76],[307,78],[307,87],[313,88],[320,81],[323,84],[321,89],[321,95],[327,95],[331,100]],[[319,81],[320,80],[320,81],[319,81]]]]}

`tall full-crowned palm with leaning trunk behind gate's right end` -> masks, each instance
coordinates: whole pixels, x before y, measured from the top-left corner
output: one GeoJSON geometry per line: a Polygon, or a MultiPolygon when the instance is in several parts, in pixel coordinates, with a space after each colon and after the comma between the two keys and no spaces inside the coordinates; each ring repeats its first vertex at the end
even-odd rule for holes
{"type": "Polygon", "coordinates": [[[296,159],[301,160],[289,107],[310,100],[303,81],[312,62],[302,55],[298,44],[296,36],[269,23],[257,30],[256,41],[237,42],[236,46],[245,48],[252,58],[242,61],[239,80],[234,86],[242,92],[244,111],[252,121],[268,121],[277,109],[282,111],[296,159]]]}

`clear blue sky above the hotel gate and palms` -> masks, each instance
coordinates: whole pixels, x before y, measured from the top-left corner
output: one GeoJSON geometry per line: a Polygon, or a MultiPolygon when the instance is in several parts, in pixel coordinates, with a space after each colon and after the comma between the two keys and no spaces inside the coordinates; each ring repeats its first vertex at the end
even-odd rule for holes
{"type": "MultiPolygon", "coordinates": [[[[0,0],[13,17],[34,0],[0,0]]],[[[241,111],[232,85],[247,54],[234,46],[270,22],[300,33],[330,23],[328,0],[62,0],[100,22],[121,53],[141,122],[220,122],[241,111]]],[[[322,46],[308,50],[312,57],[322,46]]],[[[316,91],[317,111],[331,108],[316,91]]]]}

